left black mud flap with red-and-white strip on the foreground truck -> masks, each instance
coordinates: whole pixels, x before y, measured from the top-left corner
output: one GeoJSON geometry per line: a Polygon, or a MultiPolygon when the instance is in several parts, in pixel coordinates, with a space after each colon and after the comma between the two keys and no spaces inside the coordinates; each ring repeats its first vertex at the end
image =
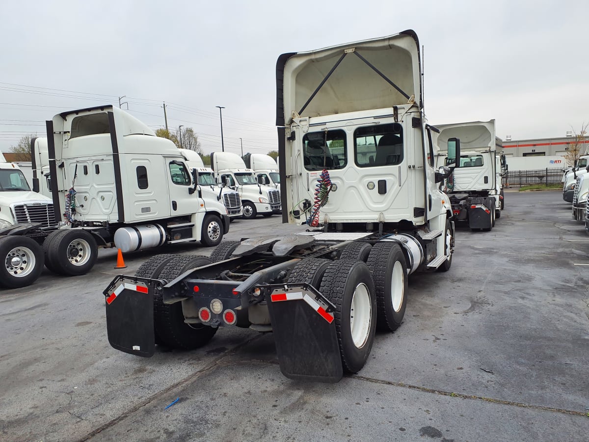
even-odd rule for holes
{"type": "Polygon", "coordinates": [[[155,285],[151,281],[159,282],[117,276],[103,292],[106,297],[108,342],[117,350],[146,358],[153,356],[155,351],[155,285]]]}

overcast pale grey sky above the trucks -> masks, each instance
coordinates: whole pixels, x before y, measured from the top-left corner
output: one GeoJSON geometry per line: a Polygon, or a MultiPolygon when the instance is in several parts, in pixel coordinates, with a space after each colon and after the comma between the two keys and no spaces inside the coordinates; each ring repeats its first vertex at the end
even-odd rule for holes
{"type": "MultiPolygon", "coordinates": [[[[0,150],[61,111],[128,102],[205,153],[277,149],[276,59],[413,29],[432,124],[495,118],[497,136],[589,122],[586,1],[2,1],[0,150]]],[[[123,105],[126,108],[127,105],[123,105]]]]}

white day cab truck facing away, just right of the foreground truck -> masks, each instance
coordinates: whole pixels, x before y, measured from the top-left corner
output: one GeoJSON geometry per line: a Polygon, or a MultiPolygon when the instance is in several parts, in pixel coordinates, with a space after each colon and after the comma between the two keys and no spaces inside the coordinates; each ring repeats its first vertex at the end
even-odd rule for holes
{"type": "Polygon", "coordinates": [[[507,171],[501,139],[495,136],[495,120],[439,124],[436,165],[447,166],[446,144],[460,138],[460,167],[446,179],[442,190],[452,203],[454,220],[473,230],[491,230],[504,209],[501,176],[507,171]]]}

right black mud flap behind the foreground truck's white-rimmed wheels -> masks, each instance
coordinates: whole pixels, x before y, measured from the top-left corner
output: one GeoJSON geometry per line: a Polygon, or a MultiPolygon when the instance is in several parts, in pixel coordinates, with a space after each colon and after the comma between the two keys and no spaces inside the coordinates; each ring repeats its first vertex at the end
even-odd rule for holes
{"type": "Polygon", "coordinates": [[[293,380],[339,381],[343,367],[333,304],[306,284],[273,288],[266,300],[282,374],[293,380]]]}

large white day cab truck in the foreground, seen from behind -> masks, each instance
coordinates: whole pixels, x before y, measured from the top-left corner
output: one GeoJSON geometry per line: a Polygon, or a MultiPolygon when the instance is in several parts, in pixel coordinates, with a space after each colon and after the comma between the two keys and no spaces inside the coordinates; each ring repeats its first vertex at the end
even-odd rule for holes
{"type": "MultiPolygon", "coordinates": [[[[191,349],[252,328],[273,331],[289,378],[358,372],[376,328],[401,325],[409,274],[452,263],[452,210],[438,189],[451,168],[434,169],[419,48],[405,31],[281,55],[282,217],[310,228],[223,242],[210,259],[155,256],[117,276],[103,292],[112,347],[149,357],[155,342],[191,349]]],[[[460,157],[459,140],[448,148],[460,157]]]]}

